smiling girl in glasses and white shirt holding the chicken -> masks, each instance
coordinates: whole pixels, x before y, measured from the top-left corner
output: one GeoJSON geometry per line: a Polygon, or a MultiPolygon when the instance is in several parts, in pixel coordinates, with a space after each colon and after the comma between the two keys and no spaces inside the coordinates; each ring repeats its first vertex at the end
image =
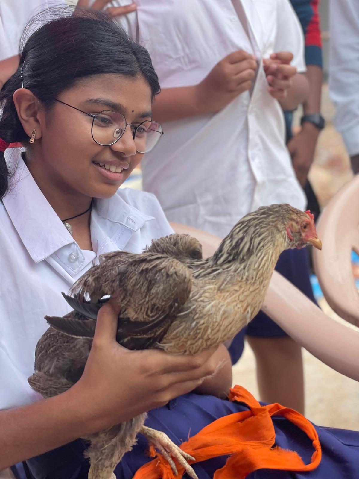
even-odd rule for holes
{"type": "MultiPolygon", "coordinates": [[[[30,34],[0,91],[0,470],[26,459],[30,478],[83,479],[81,436],[150,411],[146,425],[180,444],[217,418],[247,411],[219,399],[232,380],[224,346],[195,358],[127,351],[115,342],[111,303],[99,313],[96,347],[75,386],[44,400],[27,383],[45,314],[69,311],[61,291],[102,253],[139,253],[172,232],[153,195],[119,190],[162,136],[151,113],[158,91],[146,49],[100,13],[65,15],[30,34]],[[219,374],[203,381],[220,362],[219,374]]],[[[273,423],[276,444],[309,463],[306,435],[280,418],[273,423]]],[[[317,431],[331,455],[310,477],[356,477],[358,434],[317,431]]],[[[139,437],[116,477],[132,478],[150,460],[146,449],[139,437]]],[[[225,461],[194,468],[210,479],[225,461]]],[[[258,474],[248,477],[278,477],[258,474]]]]}

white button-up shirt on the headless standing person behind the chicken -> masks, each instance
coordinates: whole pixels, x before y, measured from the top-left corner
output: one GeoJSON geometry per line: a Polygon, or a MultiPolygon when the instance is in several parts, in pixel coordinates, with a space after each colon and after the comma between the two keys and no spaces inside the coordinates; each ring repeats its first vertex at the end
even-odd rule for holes
{"type": "MultiPolygon", "coordinates": [[[[131,3],[113,0],[112,5],[131,3]]],[[[143,185],[169,221],[224,237],[250,210],[305,197],[285,147],[280,104],[268,92],[262,58],[291,51],[305,71],[303,32],[288,0],[137,0],[118,21],[144,45],[161,88],[201,82],[230,53],[258,58],[254,89],[223,110],[163,124],[142,161],[143,185]]],[[[155,118],[156,119],[156,118],[155,118]]]]}

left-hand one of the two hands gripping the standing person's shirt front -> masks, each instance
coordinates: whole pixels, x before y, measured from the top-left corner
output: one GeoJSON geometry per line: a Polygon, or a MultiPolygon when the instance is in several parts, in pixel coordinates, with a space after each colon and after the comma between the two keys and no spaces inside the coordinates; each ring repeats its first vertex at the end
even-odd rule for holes
{"type": "Polygon", "coordinates": [[[218,112],[250,89],[257,69],[256,57],[238,50],[223,58],[197,85],[198,100],[208,112],[218,112]]]}

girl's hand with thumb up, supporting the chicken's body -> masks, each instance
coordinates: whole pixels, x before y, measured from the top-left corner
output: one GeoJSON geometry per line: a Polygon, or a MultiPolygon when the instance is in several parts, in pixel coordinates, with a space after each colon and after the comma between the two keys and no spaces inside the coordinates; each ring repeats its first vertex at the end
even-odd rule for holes
{"type": "Polygon", "coordinates": [[[94,432],[190,392],[218,364],[216,347],[194,356],[123,348],[115,340],[118,311],[114,299],[100,309],[84,372],[71,388],[94,432]]]}

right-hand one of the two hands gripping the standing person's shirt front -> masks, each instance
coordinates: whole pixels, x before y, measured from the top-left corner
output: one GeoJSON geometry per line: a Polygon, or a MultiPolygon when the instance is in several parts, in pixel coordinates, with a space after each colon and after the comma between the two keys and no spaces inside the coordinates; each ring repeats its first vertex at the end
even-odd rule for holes
{"type": "Polygon", "coordinates": [[[291,52],[272,53],[270,58],[263,59],[268,91],[276,100],[284,100],[292,86],[292,77],[297,73],[297,69],[290,65],[292,59],[291,52]]]}

